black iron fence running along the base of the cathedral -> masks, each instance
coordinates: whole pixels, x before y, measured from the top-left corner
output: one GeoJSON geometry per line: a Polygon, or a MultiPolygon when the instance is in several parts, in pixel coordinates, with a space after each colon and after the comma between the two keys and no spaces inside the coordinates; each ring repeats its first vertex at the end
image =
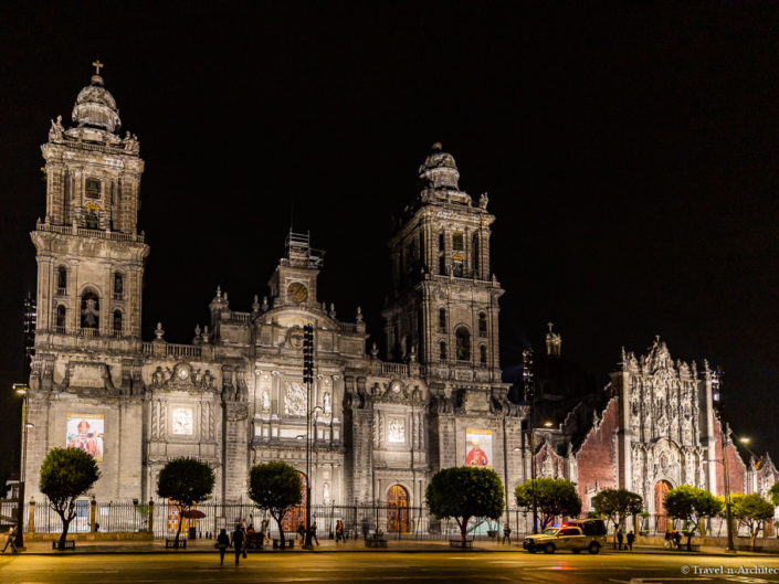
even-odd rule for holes
{"type": "MultiPolygon", "coordinates": [[[[243,520],[260,530],[263,520],[267,521],[266,533],[278,538],[278,525],[267,511],[253,503],[224,503],[208,501],[197,507],[204,517],[185,519],[181,524],[183,537],[214,538],[221,529],[228,532],[243,520]]],[[[93,503],[84,499],[77,501],[76,517],[70,525],[71,533],[88,533],[93,530],[93,503]]],[[[15,522],[17,501],[0,500],[0,529],[15,522]]],[[[45,501],[34,505],[33,530],[35,533],[59,533],[62,531],[60,516],[45,501]]],[[[30,528],[30,503],[24,505],[24,530],[30,528]]],[[[388,505],[314,505],[312,523],[317,525],[319,539],[335,537],[336,522],[344,522],[344,531],[349,539],[359,539],[381,532],[390,540],[441,540],[460,535],[460,527],[454,519],[435,519],[424,507],[402,507],[388,505]]],[[[294,538],[301,524],[305,523],[305,508],[298,507],[287,513],[282,522],[285,538],[294,538]]],[[[480,539],[502,538],[504,523],[512,530],[512,539],[533,530],[531,514],[524,509],[508,509],[498,521],[474,518],[469,522],[469,537],[480,539]]],[[[632,531],[633,519],[629,518],[625,529],[632,531]]],[[[95,502],[94,531],[138,533],[152,531],[156,538],[172,537],[179,527],[178,508],[167,501],[154,505],[134,502],[95,502]],[[149,528],[149,522],[151,527],[149,528]]],[[[686,525],[666,516],[644,514],[639,517],[641,534],[663,534],[666,530],[684,531],[686,525]]],[[[609,525],[609,531],[613,525],[609,525]]],[[[741,530],[744,531],[744,530],[741,530]]],[[[717,537],[727,532],[723,518],[706,522],[706,533],[717,537]]]]}

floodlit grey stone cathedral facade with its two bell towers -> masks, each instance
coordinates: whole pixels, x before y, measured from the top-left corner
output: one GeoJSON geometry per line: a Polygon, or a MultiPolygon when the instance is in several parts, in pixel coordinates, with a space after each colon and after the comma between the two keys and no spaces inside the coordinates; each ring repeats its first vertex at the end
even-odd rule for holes
{"type": "MultiPolygon", "coordinates": [[[[359,308],[350,321],[317,295],[322,256],[290,233],[267,297],[246,311],[217,289],[211,320],[190,344],[161,323],[141,340],[149,246],[138,232],[144,160],[120,137],[99,74],[78,94],[65,129],[42,146],[46,214],[38,252],[35,351],[30,378],[29,477],[53,447],[97,459],[98,500],[147,500],[171,458],[217,475],[218,500],[246,500],[252,465],[284,460],[305,472],[313,420],[312,498],[423,505],[439,468],[494,468],[507,493],[524,478],[525,408],[508,401],[498,364],[498,298],[489,272],[494,216],[486,195],[459,188],[453,157],[435,145],[421,188],[390,241],[392,295],[381,359],[359,308]],[[303,381],[304,327],[314,328],[314,382],[303,381]]],[[[151,284],[154,286],[154,284],[151,284]]],[[[41,498],[31,481],[29,493],[41,498]]]]}

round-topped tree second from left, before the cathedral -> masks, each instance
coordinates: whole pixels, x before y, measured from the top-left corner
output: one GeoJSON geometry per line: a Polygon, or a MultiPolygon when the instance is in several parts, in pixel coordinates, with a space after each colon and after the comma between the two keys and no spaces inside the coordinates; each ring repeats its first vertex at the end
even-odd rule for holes
{"type": "Polygon", "coordinates": [[[213,490],[213,470],[197,458],[180,457],[168,460],[157,477],[157,495],[170,499],[179,509],[179,529],[176,532],[176,543],[179,546],[179,535],[183,524],[183,514],[199,502],[208,500],[213,490]]]}

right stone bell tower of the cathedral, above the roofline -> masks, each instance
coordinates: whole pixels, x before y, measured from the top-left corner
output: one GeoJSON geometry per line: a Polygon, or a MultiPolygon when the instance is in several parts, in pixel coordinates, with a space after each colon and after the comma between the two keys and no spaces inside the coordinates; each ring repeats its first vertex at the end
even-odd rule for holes
{"type": "Polygon", "coordinates": [[[383,310],[387,357],[493,370],[499,380],[497,315],[503,294],[489,273],[495,217],[487,195],[460,190],[454,157],[434,144],[419,167],[420,191],[388,246],[392,290],[383,310]]]}

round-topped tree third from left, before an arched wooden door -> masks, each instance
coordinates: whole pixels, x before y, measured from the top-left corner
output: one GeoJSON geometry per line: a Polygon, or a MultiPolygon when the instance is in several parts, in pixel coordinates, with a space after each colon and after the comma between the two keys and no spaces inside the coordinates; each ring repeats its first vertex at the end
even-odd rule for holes
{"type": "Polygon", "coordinates": [[[249,475],[249,497],[260,509],[265,509],[278,524],[282,548],[285,548],[282,518],[292,507],[303,501],[303,481],[295,467],[272,461],[254,465],[249,475]]]}

